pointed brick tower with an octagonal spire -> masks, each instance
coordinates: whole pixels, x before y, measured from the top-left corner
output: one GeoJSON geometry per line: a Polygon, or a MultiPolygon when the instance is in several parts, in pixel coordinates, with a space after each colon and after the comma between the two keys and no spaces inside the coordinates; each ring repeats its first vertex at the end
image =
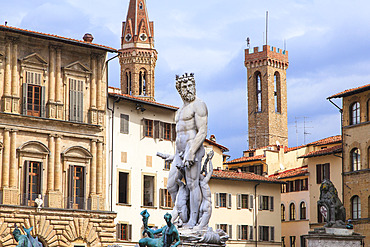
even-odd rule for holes
{"type": "Polygon", "coordinates": [[[126,22],[122,23],[119,53],[122,93],[154,101],[157,51],[145,0],[130,0],[126,22]]]}

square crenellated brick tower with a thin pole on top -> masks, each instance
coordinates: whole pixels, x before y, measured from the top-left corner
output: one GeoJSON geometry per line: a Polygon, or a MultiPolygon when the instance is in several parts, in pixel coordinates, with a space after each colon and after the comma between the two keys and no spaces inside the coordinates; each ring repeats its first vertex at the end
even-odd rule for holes
{"type": "Polygon", "coordinates": [[[288,51],[263,46],[245,50],[249,148],[288,146],[286,69],[288,51]]]}

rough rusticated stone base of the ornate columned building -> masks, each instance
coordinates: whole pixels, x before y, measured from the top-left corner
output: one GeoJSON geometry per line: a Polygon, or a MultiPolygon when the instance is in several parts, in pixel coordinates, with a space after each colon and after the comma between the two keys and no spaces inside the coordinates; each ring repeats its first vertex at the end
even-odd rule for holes
{"type": "Polygon", "coordinates": [[[49,208],[38,212],[34,207],[0,206],[0,246],[17,245],[11,234],[14,224],[32,226],[31,235],[37,236],[44,246],[109,246],[116,240],[115,217],[112,212],[49,208]]]}

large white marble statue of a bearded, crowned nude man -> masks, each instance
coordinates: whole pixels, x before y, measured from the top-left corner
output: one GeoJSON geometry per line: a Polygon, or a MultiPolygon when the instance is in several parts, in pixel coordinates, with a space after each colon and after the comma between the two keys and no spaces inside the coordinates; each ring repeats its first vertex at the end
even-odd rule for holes
{"type": "Polygon", "coordinates": [[[176,182],[177,169],[182,169],[185,173],[186,186],[190,191],[189,221],[184,227],[193,228],[198,222],[202,201],[199,174],[205,154],[203,142],[207,136],[208,110],[206,104],[196,97],[194,74],[176,76],[176,89],[184,104],[175,117],[176,152],[168,177],[167,189],[176,204],[179,191],[179,185],[176,182]]]}

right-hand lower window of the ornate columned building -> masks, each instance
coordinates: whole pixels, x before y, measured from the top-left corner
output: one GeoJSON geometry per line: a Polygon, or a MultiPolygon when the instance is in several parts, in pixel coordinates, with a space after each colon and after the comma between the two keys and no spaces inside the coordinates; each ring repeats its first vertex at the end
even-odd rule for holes
{"type": "Polygon", "coordinates": [[[69,208],[85,208],[85,167],[69,167],[69,208]]]}

